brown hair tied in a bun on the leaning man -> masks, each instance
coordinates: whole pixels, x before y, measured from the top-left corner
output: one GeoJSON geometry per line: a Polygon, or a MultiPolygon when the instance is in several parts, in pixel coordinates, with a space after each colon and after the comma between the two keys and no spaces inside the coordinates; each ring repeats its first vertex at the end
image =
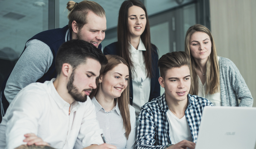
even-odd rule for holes
{"type": "Polygon", "coordinates": [[[87,23],[86,16],[88,12],[92,11],[94,14],[104,17],[106,13],[100,4],[93,1],[82,1],[76,3],[69,1],[67,4],[68,14],[68,27],[72,28],[72,22],[76,21],[78,28],[82,28],[87,23]]]}

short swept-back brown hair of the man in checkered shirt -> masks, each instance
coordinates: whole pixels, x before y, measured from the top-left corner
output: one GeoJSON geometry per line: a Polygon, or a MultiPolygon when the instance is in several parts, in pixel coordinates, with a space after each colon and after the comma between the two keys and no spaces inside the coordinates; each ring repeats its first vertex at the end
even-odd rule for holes
{"type": "Polygon", "coordinates": [[[172,52],[164,54],[158,60],[158,67],[160,70],[160,76],[164,79],[165,73],[168,69],[175,67],[188,66],[190,69],[190,58],[189,55],[183,51],[172,52]]]}

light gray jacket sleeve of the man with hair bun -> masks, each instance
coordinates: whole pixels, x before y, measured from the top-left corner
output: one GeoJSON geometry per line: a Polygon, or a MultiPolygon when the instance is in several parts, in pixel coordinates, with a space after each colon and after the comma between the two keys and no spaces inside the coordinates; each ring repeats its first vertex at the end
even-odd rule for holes
{"type": "Polygon", "coordinates": [[[47,44],[37,39],[28,41],[6,82],[4,95],[7,101],[11,103],[21,89],[41,78],[52,65],[52,60],[52,51],[47,44]]]}

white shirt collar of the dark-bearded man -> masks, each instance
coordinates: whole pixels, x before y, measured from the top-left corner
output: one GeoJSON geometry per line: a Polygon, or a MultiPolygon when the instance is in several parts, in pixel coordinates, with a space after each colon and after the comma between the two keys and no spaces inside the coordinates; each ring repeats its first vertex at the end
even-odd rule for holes
{"type": "MultiPolygon", "coordinates": [[[[48,82],[47,86],[48,86],[48,90],[52,96],[52,98],[55,100],[55,102],[57,103],[57,105],[60,107],[60,109],[62,109],[63,107],[70,107],[70,104],[65,101],[63,98],[60,97],[59,93],[57,92],[57,90],[55,89],[53,82],[55,81],[56,78],[53,78],[51,81],[48,82]]],[[[87,99],[88,100],[88,99],[87,99]]],[[[70,109],[77,109],[81,103],[78,101],[75,101],[71,104],[72,106],[70,107],[70,109]]]]}

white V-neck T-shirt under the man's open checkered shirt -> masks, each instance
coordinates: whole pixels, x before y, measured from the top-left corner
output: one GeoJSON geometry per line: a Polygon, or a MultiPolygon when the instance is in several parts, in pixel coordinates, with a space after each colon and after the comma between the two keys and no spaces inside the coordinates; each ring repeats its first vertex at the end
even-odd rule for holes
{"type": "Polygon", "coordinates": [[[176,117],[171,110],[166,112],[167,120],[169,122],[169,137],[172,141],[172,144],[179,143],[182,140],[188,140],[192,142],[192,135],[184,115],[181,119],[176,117]]]}

